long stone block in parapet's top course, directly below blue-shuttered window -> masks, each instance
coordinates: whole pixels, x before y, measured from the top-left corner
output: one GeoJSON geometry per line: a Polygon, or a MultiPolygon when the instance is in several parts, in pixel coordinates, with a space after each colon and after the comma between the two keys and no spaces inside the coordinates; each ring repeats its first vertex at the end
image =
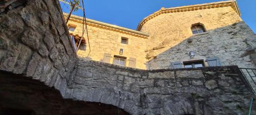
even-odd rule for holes
{"type": "Polygon", "coordinates": [[[203,72],[201,70],[195,71],[177,71],[176,78],[204,78],[203,72]]]}

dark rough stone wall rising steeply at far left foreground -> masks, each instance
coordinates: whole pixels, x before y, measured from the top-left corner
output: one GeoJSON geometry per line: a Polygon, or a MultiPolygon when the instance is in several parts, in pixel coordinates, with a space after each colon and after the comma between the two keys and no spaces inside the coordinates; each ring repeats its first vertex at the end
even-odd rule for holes
{"type": "Polygon", "coordinates": [[[58,1],[14,1],[0,13],[0,70],[65,88],[77,60],[58,1]]]}

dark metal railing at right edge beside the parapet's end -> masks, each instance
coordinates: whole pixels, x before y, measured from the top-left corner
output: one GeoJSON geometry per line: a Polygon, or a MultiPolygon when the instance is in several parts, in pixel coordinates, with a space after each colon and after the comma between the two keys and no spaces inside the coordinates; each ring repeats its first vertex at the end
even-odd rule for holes
{"type": "Polygon", "coordinates": [[[245,80],[248,82],[254,94],[256,94],[256,69],[255,68],[240,68],[245,80]]]}

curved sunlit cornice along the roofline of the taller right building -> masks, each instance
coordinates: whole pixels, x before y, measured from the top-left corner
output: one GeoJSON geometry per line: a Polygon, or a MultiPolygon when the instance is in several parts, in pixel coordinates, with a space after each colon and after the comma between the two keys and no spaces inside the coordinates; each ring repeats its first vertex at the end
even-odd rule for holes
{"type": "Polygon", "coordinates": [[[229,7],[229,6],[232,7],[234,9],[234,11],[236,11],[238,13],[239,16],[241,16],[237,2],[235,0],[215,2],[215,3],[206,3],[206,4],[199,4],[199,5],[182,6],[182,7],[173,7],[173,8],[161,8],[160,10],[156,11],[155,13],[153,13],[153,14],[145,17],[143,20],[141,20],[136,30],[140,31],[141,27],[145,24],[146,21],[148,21],[160,14],[163,14],[163,13],[186,12],[186,11],[194,11],[194,10],[201,10],[201,9],[229,7]]]}

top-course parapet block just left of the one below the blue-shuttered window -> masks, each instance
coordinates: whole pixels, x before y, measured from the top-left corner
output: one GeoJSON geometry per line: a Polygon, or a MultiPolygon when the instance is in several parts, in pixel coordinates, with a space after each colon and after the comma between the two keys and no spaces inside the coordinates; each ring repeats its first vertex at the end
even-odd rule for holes
{"type": "Polygon", "coordinates": [[[175,79],[174,72],[157,72],[157,73],[148,73],[148,79],[175,79]]]}

